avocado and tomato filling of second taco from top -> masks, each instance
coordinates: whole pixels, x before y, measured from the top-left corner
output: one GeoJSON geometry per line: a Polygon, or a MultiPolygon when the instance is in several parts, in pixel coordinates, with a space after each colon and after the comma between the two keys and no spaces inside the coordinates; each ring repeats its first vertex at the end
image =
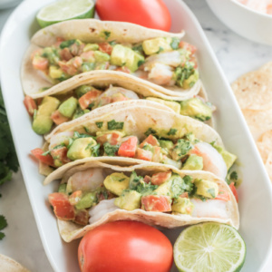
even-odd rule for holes
{"type": "Polygon", "coordinates": [[[65,121],[83,116],[99,107],[128,100],[146,99],[170,107],[174,112],[208,121],[215,107],[196,96],[185,101],[169,101],[156,97],[144,97],[136,92],[110,85],[105,91],[90,85],[82,85],[71,92],[54,96],[45,96],[34,100],[24,97],[27,112],[33,116],[33,130],[38,134],[51,131],[53,124],[59,125],[65,121]]]}

